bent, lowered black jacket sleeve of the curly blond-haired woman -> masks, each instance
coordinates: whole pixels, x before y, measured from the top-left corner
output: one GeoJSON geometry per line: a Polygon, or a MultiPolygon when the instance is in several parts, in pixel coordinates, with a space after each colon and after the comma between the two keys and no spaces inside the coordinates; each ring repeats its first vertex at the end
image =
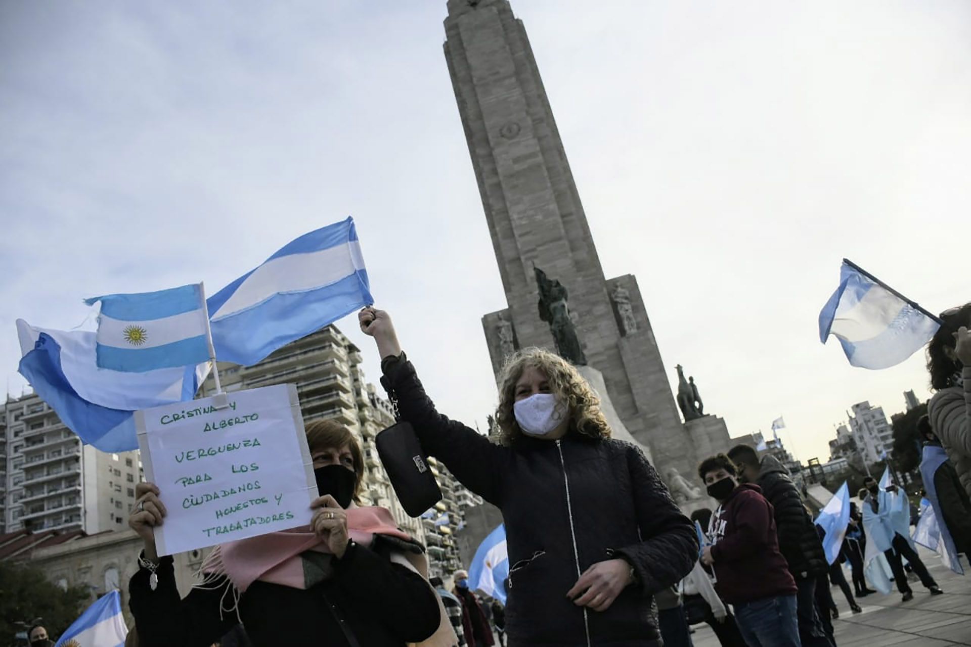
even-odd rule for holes
{"type": "Polygon", "coordinates": [[[642,593],[653,595],[690,572],[698,561],[698,537],[644,452],[632,445],[627,448],[627,469],[641,541],[615,552],[634,566],[642,593]]]}

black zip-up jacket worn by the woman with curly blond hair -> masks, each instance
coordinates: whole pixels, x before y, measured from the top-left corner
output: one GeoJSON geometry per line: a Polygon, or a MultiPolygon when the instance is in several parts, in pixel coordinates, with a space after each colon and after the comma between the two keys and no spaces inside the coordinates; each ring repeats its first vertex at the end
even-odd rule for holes
{"type": "Polygon", "coordinates": [[[385,360],[382,383],[423,449],[502,510],[510,575],[506,633],[517,645],[659,644],[653,594],[698,558],[691,522],[635,446],[568,435],[492,444],[435,410],[410,362],[385,360]],[[586,569],[619,557],[637,583],[604,612],[566,598],[586,569]]]}

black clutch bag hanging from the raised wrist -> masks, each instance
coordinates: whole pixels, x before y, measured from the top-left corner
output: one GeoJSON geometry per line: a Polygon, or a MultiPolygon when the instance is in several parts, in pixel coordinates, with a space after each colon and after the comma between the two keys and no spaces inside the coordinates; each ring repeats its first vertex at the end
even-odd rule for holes
{"type": "Polygon", "coordinates": [[[378,456],[398,495],[401,507],[413,517],[442,500],[442,491],[421,451],[419,437],[410,422],[396,422],[375,439],[378,456]]]}

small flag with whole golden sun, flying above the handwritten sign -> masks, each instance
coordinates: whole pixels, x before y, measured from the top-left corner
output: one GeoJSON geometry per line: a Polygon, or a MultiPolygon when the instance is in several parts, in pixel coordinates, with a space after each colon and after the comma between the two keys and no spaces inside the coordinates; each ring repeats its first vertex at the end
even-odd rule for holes
{"type": "Polygon", "coordinates": [[[184,367],[210,358],[209,327],[200,283],[158,292],[111,294],[101,302],[97,365],[124,372],[184,367]]]}

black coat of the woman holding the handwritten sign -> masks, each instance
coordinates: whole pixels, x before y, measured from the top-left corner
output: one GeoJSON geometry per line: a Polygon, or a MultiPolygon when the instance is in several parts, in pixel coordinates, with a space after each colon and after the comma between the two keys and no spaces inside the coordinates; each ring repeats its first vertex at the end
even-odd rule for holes
{"type": "Polygon", "coordinates": [[[240,597],[239,619],[236,611],[219,608],[232,605],[228,581],[194,588],[180,599],[173,560],[163,557],[154,591],[146,568],[128,585],[139,644],[209,647],[240,620],[255,647],[343,647],[353,644],[346,631],[360,647],[404,647],[424,640],[439,627],[438,594],[418,573],[392,564],[381,552],[380,546],[353,545],[334,562],[330,579],[307,590],[253,582],[240,597]]]}

